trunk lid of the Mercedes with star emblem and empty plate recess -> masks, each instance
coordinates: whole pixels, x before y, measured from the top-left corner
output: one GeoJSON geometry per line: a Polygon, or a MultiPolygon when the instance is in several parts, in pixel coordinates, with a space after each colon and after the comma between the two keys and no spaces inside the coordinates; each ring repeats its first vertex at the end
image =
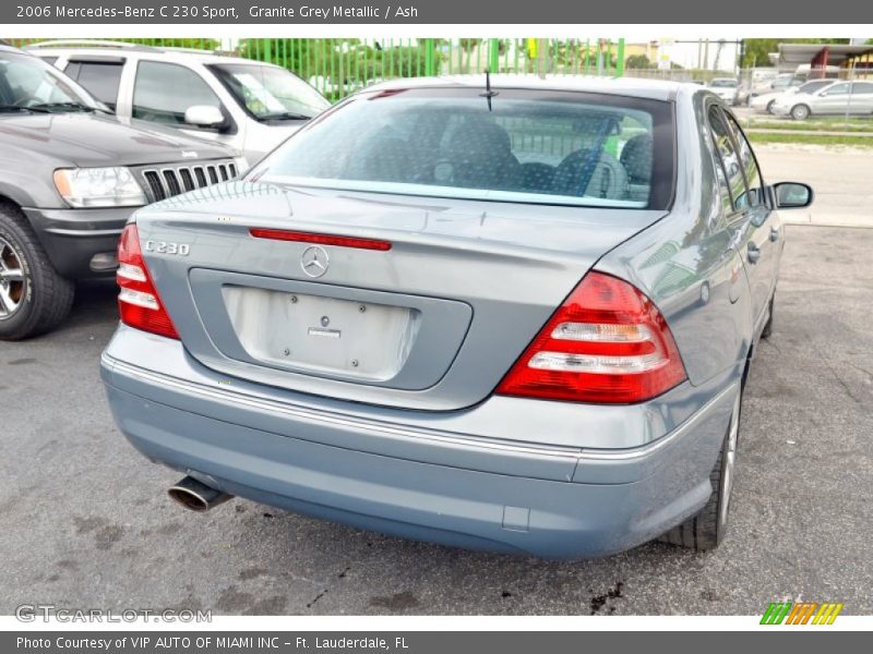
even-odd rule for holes
{"type": "Polygon", "coordinates": [[[202,364],[338,400],[454,410],[488,397],[597,259],[663,215],[234,182],[153,205],[137,223],[202,364]],[[297,240],[276,238],[287,232],[297,240]],[[325,237],[390,249],[314,242],[325,237]]]}

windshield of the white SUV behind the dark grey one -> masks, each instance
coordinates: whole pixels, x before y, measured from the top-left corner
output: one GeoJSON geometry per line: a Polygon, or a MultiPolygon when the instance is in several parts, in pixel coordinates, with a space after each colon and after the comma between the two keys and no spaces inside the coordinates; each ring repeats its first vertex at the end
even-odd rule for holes
{"type": "Polygon", "coordinates": [[[318,90],[285,69],[248,63],[207,68],[258,120],[310,119],[331,106],[318,90]]]}

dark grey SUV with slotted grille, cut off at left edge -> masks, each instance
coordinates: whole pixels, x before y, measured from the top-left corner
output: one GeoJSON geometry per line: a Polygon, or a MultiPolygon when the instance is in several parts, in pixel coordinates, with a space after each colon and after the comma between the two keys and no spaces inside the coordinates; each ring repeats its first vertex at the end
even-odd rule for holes
{"type": "Polygon", "coordinates": [[[232,155],[121,124],[56,69],[0,46],[0,339],[58,325],[73,280],[115,272],[134,208],[232,179],[232,155]]]}

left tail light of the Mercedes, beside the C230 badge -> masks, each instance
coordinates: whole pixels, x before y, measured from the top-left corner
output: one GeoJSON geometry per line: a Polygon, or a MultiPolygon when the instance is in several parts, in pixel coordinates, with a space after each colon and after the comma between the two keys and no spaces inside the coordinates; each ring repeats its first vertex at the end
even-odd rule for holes
{"type": "Polygon", "coordinates": [[[179,338],[152,282],[140,250],[140,233],[135,225],[128,225],[121,233],[116,278],[121,287],[118,293],[118,311],[124,325],[167,338],[179,338]]]}

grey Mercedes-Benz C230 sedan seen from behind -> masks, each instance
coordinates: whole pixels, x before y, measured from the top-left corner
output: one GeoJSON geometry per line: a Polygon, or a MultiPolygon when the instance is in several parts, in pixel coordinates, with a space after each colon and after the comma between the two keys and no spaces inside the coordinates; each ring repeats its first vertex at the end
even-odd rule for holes
{"type": "Polygon", "coordinates": [[[123,233],[101,370],[183,506],[543,557],[725,537],[777,209],[812,191],[708,89],[404,80],[240,181],[160,183],[190,192],[123,233]]]}

